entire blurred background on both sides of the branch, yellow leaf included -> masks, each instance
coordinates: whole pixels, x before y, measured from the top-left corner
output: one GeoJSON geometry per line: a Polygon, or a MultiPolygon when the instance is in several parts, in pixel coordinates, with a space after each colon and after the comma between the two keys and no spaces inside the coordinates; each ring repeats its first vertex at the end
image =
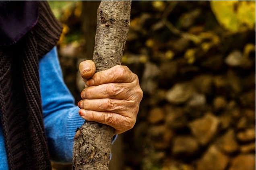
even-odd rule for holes
{"type": "MultiPolygon", "coordinates": [[[[92,58],[100,1],[49,3],[78,102],[78,64],[92,58]]],[[[255,41],[255,1],[132,1],[122,64],[144,96],[110,170],[255,170],[255,41]]]]}

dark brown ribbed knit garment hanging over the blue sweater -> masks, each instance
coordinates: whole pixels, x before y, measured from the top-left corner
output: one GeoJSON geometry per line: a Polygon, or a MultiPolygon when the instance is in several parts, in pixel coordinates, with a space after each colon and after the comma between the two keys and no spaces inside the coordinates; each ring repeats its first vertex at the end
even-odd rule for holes
{"type": "Polygon", "coordinates": [[[47,1],[39,1],[36,25],[17,43],[0,47],[0,116],[10,170],[51,170],[38,66],[61,32],[47,1]]]}

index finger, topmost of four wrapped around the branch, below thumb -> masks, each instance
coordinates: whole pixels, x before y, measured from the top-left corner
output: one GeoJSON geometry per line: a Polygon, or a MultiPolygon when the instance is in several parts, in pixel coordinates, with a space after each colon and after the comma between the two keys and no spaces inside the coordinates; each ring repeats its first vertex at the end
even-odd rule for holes
{"type": "Polygon", "coordinates": [[[102,72],[97,72],[93,77],[87,80],[88,86],[98,86],[99,84],[122,82],[132,82],[136,78],[136,74],[132,73],[126,66],[114,66],[102,72]]]}

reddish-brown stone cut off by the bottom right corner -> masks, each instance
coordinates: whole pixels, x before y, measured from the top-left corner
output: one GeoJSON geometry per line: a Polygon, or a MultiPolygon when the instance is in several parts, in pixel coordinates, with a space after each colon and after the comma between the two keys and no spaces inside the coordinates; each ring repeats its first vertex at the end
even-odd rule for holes
{"type": "Polygon", "coordinates": [[[255,155],[238,155],[232,162],[229,170],[255,170],[255,155]]]}

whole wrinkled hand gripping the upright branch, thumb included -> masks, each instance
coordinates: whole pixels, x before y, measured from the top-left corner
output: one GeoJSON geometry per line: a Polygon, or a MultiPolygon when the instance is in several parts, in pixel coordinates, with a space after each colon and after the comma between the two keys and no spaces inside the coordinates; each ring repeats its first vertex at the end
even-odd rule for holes
{"type": "Polygon", "coordinates": [[[136,74],[126,66],[95,73],[91,60],[81,62],[79,70],[88,86],[81,92],[79,115],[87,121],[114,127],[115,134],[132,129],[143,95],[136,74]]]}

